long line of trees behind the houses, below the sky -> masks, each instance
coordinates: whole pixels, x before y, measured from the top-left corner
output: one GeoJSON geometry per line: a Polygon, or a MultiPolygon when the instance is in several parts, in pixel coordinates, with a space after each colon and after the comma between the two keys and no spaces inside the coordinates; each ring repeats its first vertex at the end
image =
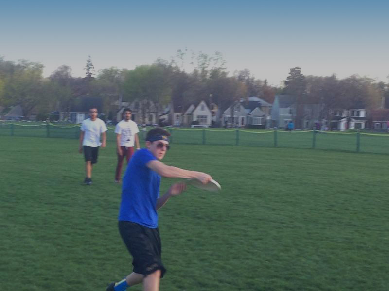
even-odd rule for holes
{"type": "Polygon", "coordinates": [[[335,74],[304,76],[301,68],[295,67],[290,69],[283,86],[277,87],[256,79],[248,69],[229,75],[219,52],[212,56],[202,52],[192,55],[194,68],[187,72],[186,53],[178,50],[170,61],[157,59],[132,70],[110,67],[97,74],[89,57],[85,77],[72,77],[71,67],[62,65],[48,78],[43,77],[40,63],[0,57],[0,106],[20,105],[23,116],[35,111],[38,119],[45,119],[49,112],[69,111],[82,100],[90,104],[99,100],[100,112],[109,116],[110,104],[116,100],[138,100],[144,107],[152,101],[157,108],[172,103],[175,112],[184,113],[190,104],[201,100],[225,110],[241,98],[256,96],[272,103],[276,94],[288,94],[297,97],[297,115],[302,114],[302,104],[323,104],[324,115],[331,108],[389,108],[389,83],[358,75],[345,79],[335,74]]]}

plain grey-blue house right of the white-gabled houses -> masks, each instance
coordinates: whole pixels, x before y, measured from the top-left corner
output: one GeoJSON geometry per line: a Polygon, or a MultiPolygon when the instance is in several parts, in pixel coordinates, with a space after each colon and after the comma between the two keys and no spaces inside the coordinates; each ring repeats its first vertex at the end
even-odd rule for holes
{"type": "Polygon", "coordinates": [[[286,128],[289,121],[296,117],[296,97],[276,95],[271,110],[272,127],[286,128]]]}

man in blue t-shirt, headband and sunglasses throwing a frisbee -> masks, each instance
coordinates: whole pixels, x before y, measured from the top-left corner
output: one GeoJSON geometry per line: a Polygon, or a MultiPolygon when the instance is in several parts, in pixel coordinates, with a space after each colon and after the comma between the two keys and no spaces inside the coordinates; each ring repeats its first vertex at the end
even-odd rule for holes
{"type": "Polygon", "coordinates": [[[120,282],[111,283],[107,291],[124,291],[143,283],[144,291],[158,291],[159,279],[166,269],[161,260],[158,213],[167,200],[185,191],[185,183],[175,183],[159,196],[161,176],[167,178],[195,178],[208,183],[206,173],[184,170],[160,162],[169,149],[170,133],[151,129],[146,136],[146,148],[131,158],[123,178],[122,202],[119,210],[119,232],[133,257],[133,272],[120,282]]]}

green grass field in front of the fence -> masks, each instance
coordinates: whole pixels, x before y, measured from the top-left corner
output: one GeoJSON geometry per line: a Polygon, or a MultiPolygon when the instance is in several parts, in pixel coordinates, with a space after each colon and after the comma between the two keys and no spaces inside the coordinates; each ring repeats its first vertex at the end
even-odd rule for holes
{"type": "MultiPolygon", "coordinates": [[[[77,146],[0,136],[0,290],[105,290],[131,272],[114,144],[90,187],[77,146]]],[[[161,290],[389,290],[388,159],[173,143],[164,162],[209,172],[223,191],[188,189],[159,210],[161,290]]]]}

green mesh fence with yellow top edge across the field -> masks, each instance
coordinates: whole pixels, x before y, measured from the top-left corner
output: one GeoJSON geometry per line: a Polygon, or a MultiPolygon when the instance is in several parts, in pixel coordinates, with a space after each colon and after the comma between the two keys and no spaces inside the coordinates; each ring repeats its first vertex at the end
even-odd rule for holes
{"type": "MultiPolygon", "coordinates": [[[[389,134],[318,130],[167,129],[172,134],[170,141],[174,144],[317,148],[389,154],[389,134]]],[[[144,140],[146,132],[140,130],[141,140],[144,140]]],[[[79,134],[79,125],[0,123],[0,136],[78,139],[79,134]]],[[[108,127],[107,140],[116,141],[113,127],[108,127]]]]}

